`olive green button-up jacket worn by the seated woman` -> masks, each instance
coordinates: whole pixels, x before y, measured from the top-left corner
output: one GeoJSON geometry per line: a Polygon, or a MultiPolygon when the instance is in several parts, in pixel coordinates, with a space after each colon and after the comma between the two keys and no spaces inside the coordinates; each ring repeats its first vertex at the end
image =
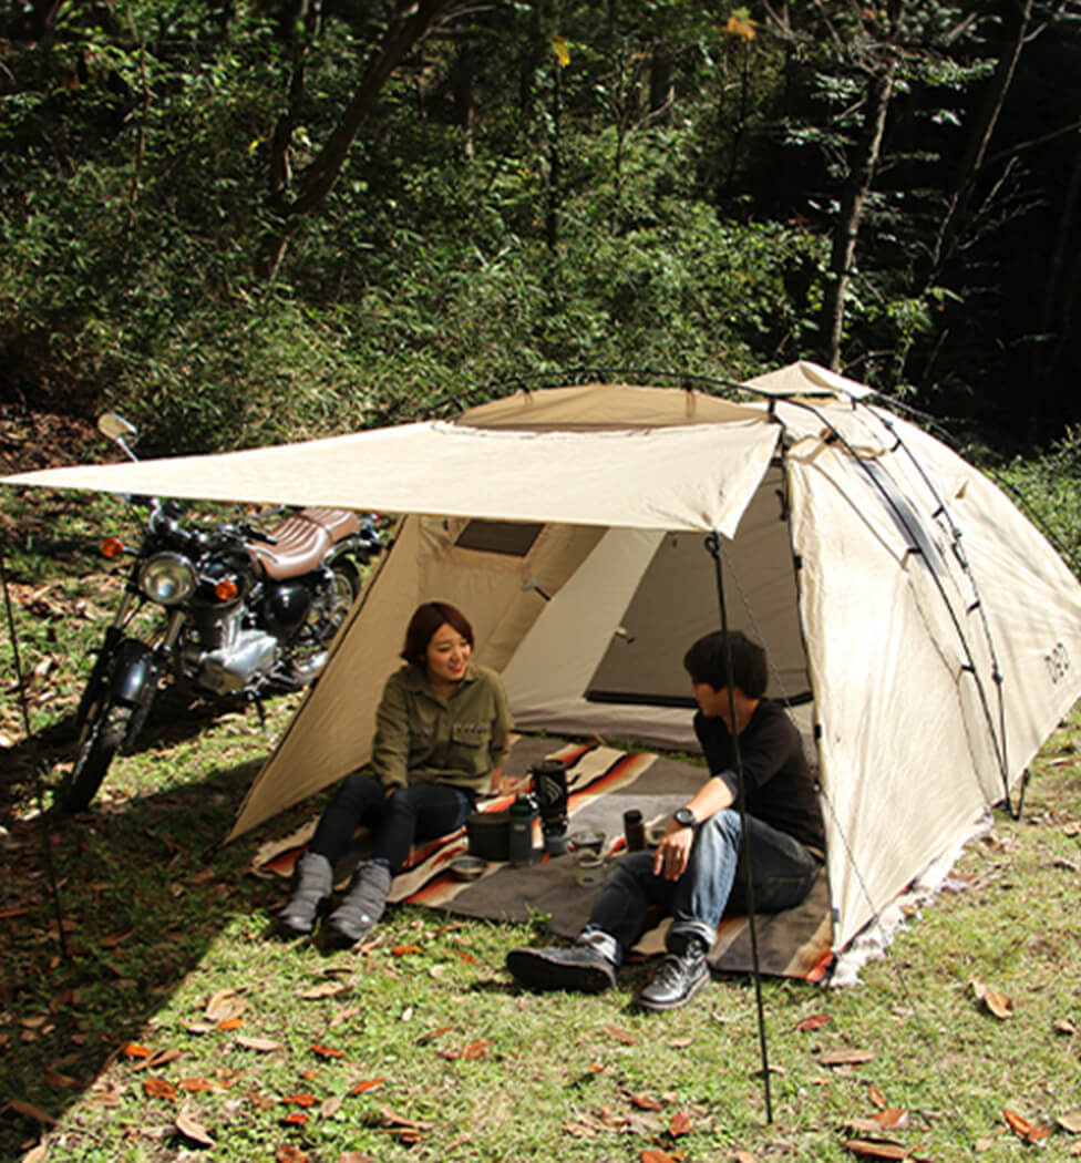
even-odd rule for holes
{"type": "Polygon", "coordinates": [[[470,662],[444,700],[423,668],[407,664],[382,688],[371,769],[384,787],[443,783],[484,792],[509,750],[513,726],[494,670],[470,662]]]}

